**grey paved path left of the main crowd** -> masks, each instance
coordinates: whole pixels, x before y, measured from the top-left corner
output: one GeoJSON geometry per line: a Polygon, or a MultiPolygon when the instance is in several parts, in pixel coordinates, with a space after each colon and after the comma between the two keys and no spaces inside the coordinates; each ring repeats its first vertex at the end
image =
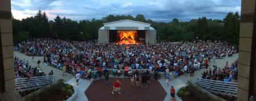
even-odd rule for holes
{"type": "Polygon", "coordinates": [[[24,54],[20,53],[19,51],[14,51],[14,55],[16,55],[19,59],[28,60],[28,62],[30,63],[29,65],[31,65],[32,68],[37,66],[37,61],[40,59],[41,63],[39,65],[39,67],[42,69],[42,71],[44,73],[46,73],[46,75],[48,75],[48,73],[51,72],[51,70],[52,70],[54,75],[55,75],[55,81],[58,81],[60,79],[68,81],[73,77],[72,74],[69,74],[69,73],[67,73],[67,76],[62,76],[63,72],[60,69],[53,68],[49,65],[44,64],[43,63],[44,62],[44,57],[43,56],[35,56],[34,57],[34,62],[32,62],[32,56],[24,55],[24,54]]]}

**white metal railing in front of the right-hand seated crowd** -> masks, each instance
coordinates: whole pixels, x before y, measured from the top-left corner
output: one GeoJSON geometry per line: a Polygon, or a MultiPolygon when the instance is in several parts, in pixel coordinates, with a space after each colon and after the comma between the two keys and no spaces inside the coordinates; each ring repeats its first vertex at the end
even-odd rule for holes
{"type": "Polygon", "coordinates": [[[237,82],[226,82],[197,78],[196,84],[208,91],[221,95],[237,96],[237,82]]]}

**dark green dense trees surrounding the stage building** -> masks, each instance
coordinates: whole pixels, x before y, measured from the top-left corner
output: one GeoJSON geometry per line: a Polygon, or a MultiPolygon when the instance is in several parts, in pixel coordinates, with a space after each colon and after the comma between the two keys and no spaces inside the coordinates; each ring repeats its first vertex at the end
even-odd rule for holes
{"type": "Polygon", "coordinates": [[[60,39],[72,39],[76,41],[90,41],[98,38],[98,29],[103,23],[111,21],[130,19],[150,23],[157,30],[159,41],[189,41],[203,40],[225,40],[233,45],[238,45],[240,16],[238,12],[229,12],[224,20],[212,20],[206,17],[182,21],[172,19],[170,23],[156,22],[145,19],[141,14],[133,17],[131,15],[108,15],[101,20],[74,21],[65,17],[56,16],[48,20],[45,12],[38,11],[33,17],[17,20],[13,18],[14,43],[27,38],[52,37],[60,39]]]}

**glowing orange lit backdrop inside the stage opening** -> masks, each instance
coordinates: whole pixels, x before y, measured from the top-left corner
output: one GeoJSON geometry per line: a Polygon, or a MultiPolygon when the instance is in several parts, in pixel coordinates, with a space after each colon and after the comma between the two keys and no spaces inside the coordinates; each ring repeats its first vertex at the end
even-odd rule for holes
{"type": "Polygon", "coordinates": [[[137,32],[135,30],[118,30],[118,36],[120,41],[118,43],[134,44],[135,36],[137,32]]]}

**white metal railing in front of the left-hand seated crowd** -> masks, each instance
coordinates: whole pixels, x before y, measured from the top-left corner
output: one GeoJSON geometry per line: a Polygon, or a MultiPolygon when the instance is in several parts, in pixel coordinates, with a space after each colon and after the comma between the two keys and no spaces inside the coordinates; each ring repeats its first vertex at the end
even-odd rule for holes
{"type": "Polygon", "coordinates": [[[54,76],[40,76],[30,78],[15,78],[15,89],[17,91],[25,91],[39,89],[55,82],[54,76]]]}

